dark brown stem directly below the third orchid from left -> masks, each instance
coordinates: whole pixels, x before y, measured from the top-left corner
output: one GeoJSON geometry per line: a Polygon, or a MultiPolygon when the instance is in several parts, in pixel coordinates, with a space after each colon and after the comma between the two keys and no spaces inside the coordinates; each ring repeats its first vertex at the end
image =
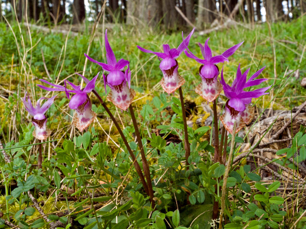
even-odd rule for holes
{"type": "Polygon", "coordinates": [[[136,117],[135,117],[135,114],[134,114],[132,104],[129,106],[129,111],[130,111],[130,114],[131,114],[131,118],[132,118],[132,121],[133,121],[134,129],[135,129],[135,133],[136,133],[136,137],[137,137],[137,142],[138,142],[138,147],[139,147],[139,150],[140,150],[142,165],[144,167],[144,176],[147,179],[147,185],[148,185],[148,189],[149,189],[149,195],[150,195],[150,200],[151,200],[151,203],[152,203],[152,208],[154,208],[155,207],[155,201],[153,199],[154,198],[154,192],[153,192],[153,188],[152,188],[150,168],[149,168],[149,164],[148,164],[148,161],[147,161],[147,158],[146,158],[146,154],[144,153],[144,146],[143,146],[142,141],[141,141],[140,132],[139,132],[139,129],[138,129],[137,120],[136,120],[136,117]]]}

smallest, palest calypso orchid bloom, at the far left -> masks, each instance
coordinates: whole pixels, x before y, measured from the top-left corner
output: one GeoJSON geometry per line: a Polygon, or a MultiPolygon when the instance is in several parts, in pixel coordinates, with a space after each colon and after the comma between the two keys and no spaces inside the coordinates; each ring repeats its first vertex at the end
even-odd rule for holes
{"type": "Polygon", "coordinates": [[[28,92],[26,92],[24,95],[24,107],[30,113],[30,115],[33,116],[32,123],[35,126],[33,136],[39,140],[45,140],[51,134],[51,130],[47,128],[47,117],[44,114],[53,104],[55,97],[56,96],[53,96],[50,99],[41,97],[39,100],[37,100],[36,107],[34,108],[30,100],[30,96],[28,95],[28,92]],[[40,106],[40,100],[44,99],[47,99],[47,102],[40,106]]]}

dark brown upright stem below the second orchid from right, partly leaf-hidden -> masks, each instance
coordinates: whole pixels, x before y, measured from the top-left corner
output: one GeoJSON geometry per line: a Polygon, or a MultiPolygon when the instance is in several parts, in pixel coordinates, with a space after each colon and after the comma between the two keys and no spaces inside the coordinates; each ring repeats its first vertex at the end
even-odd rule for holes
{"type": "MultiPolygon", "coordinates": [[[[214,129],[215,129],[215,155],[214,162],[219,160],[219,128],[218,128],[218,116],[217,116],[217,103],[216,100],[213,101],[213,111],[214,111],[214,129]]],[[[216,178],[218,179],[218,178],[216,178]]],[[[218,193],[217,184],[215,184],[215,193],[218,193]]],[[[217,219],[219,210],[219,202],[215,199],[213,207],[213,219],[217,219]]]]}

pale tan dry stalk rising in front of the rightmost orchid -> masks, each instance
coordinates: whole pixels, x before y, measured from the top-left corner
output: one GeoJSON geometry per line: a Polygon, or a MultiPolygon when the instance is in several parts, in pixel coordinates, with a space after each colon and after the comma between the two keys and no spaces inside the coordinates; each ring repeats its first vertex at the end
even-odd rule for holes
{"type": "Polygon", "coordinates": [[[223,177],[219,229],[222,229],[223,213],[224,213],[224,209],[225,209],[226,182],[227,182],[227,177],[229,175],[230,166],[231,166],[231,162],[232,162],[232,156],[233,156],[234,144],[235,144],[235,133],[236,133],[236,122],[234,122],[234,126],[233,126],[232,141],[231,141],[231,144],[230,144],[230,155],[229,155],[229,158],[227,160],[226,170],[225,170],[224,177],[223,177]]]}

